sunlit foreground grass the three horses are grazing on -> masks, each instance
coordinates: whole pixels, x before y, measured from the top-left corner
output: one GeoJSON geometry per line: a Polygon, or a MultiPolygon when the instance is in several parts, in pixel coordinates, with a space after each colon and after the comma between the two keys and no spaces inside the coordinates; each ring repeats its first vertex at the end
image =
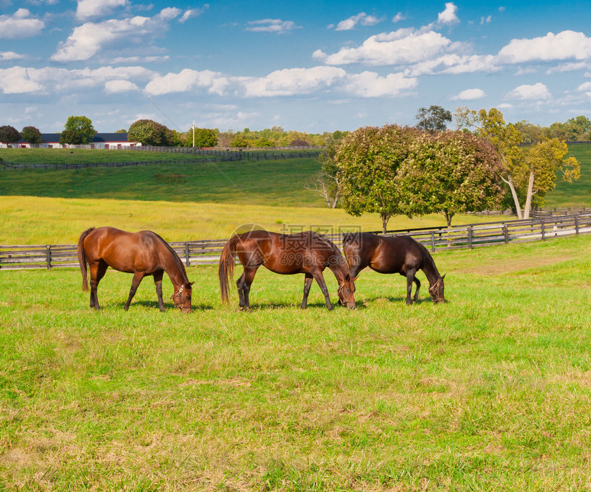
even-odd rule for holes
{"type": "Polygon", "coordinates": [[[149,279],[124,312],[129,274],[91,312],[76,270],[0,272],[0,489],[585,489],[590,253],[438,253],[445,305],[364,271],[354,312],[264,269],[239,312],[189,268],[187,316],[149,279]]]}

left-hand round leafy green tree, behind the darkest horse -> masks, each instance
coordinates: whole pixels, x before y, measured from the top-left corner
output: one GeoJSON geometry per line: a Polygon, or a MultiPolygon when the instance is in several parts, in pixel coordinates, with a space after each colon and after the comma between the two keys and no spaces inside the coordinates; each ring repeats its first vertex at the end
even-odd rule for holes
{"type": "Polygon", "coordinates": [[[359,128],[344,137],[334,160],[347,213],[379,213],[383,232],[392,216],[412,214],[397,172],[419,133],[416,128],[386,125],[359,128]]]}

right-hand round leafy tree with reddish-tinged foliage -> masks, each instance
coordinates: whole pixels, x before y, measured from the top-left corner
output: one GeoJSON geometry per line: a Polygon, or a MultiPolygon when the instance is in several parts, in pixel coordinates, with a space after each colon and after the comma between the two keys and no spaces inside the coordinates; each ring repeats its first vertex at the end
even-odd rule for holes
{"type": "Polygon", "coordinates": [[[493,146],[465,132],[420,134],[398,172],[412,213],[442,213],[447,226],[456,213],[495,209],[504,196],[502,162],[493,146]]]}

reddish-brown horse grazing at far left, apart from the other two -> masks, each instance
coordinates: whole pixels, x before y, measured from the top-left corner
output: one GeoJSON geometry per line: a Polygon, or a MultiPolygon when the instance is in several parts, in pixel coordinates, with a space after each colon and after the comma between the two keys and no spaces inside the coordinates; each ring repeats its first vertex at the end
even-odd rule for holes
{"type": "Polygon", "coordinates": [[[152,275],[156,284],[158,306],[164,311],[162,300],[162,277],[170,277],[175,288],[172,301],[182,312],[191,310],[193,285],[179,255],[159,235],[152,231],[128,233],[114,227],[87,229],[78,239],[78,262],[82,272],[82,290],[88,290],[86,263],[90,270],[90,307],[100,309],[96,290],[100,279],[109,266],[120,272],[133,273],[129,298],[124,309],[129,309],[137,286],[144,277],[152,275]]]}

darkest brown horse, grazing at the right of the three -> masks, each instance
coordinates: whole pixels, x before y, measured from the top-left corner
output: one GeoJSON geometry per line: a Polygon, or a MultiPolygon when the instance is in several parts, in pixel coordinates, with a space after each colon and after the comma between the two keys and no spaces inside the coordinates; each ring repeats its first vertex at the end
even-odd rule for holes
{"type": "Polygon", "coordinates": [[[423,270],[429,281],[429,293],[434,303],[445,302],[443,277],[427,248],[410,236],[379,236],[372,233],[347,233],[343,237],[343,251],[349,264],[351,277],[366,267],[379,273],[399,273],[406,277],[406,303],[419,298],[421,282],[415,277],[423,270]],[[414,298],[411,298],[412,282],[416,283],[414,298]]]}

